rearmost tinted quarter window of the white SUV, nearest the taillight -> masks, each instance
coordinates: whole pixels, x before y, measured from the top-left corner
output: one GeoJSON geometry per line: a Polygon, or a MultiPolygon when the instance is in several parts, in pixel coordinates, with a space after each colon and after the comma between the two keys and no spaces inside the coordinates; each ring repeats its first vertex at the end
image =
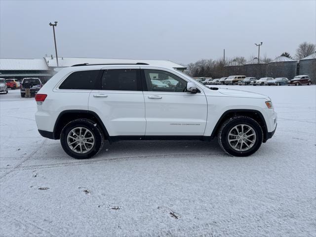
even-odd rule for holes
{"type": "Polygon", "coordinates": [[[74,72],[66,78],[59,86],[59,89],[70,90],[92,90],[100,70],[89,70],[74,72]]]}

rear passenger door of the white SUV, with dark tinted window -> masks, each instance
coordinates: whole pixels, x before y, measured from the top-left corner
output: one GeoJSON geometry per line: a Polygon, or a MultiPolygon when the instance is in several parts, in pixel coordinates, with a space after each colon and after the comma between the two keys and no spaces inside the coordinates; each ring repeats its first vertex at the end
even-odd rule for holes
{"type": "Polygon", "coordinates": [[[145,101],[139,66],[103,68],[100,86],[89,96],[89,110],[110,136],[144,136],[145,101]]]}

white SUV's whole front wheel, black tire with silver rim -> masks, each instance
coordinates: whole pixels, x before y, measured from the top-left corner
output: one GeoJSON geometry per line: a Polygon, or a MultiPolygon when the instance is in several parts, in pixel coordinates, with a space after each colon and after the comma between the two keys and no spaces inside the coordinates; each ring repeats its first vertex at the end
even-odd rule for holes
{"type": "Polygon", "coordinates": [[[229,155],[247,157],[261,146],[263,132],[259,123],[247,116],[226,120],[218,132],[218,142],[229,155]]]}

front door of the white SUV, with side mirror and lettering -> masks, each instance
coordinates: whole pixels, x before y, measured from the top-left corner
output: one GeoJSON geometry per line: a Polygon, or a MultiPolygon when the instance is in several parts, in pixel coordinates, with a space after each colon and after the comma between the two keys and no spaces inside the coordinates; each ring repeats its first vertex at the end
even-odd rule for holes
{"type": "MultiPolygon", "coordinates": [[[[187,79],[168,70],[144,69],[146,136],[202,136],[207,119],[206,97],[202,89],[185,92],[187,79]],[[158,87],[152,80],[173,79],[177,83],[158,87]]],[[[197,83],[196,83],[197,84],[197,83]]]]}

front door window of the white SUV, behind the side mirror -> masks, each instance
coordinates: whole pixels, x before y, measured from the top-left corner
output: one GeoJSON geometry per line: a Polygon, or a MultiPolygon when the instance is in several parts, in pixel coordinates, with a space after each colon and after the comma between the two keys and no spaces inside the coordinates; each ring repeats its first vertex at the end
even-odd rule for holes
{"type": "Polygon", "coordinates": [[[185,92],[187,81],[161,70],[144,70],[149,91],[185,92]]]}

